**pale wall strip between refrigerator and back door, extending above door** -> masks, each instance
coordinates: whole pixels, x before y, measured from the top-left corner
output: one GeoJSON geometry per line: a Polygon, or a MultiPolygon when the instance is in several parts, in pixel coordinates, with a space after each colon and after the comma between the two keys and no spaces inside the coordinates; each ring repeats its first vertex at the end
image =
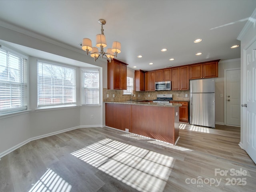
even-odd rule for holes
{"type": "Polygon", "coordinates": [[[224,124],[224,70],[240,68],[240,58],[221,60],[218,64],[218,78],[215,79],[215,123],[224,124]],[[220,94],[223,97],[220,97],[220,94]]]}

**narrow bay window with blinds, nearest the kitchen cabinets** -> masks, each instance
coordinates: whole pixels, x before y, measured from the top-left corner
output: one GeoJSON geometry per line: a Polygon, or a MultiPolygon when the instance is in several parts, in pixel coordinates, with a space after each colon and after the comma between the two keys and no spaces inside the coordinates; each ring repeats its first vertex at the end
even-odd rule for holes
{"type": "Polygon", "coordinates": [[[100,104],[100,86],[99,70],[82,70],[82,104],[99,105],[100,104]]]}

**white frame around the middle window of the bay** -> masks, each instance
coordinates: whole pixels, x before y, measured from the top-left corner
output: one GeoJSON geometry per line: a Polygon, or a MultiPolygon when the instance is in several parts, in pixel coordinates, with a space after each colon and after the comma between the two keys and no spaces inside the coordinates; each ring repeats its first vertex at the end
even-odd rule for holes
{"type": "Polygon", "coordinates": [[[44,60],[44,59],[37,59],[37,62],[36,62],[36,73],[37,73],[37,96],[36,96],[36,110],[48,110],[48,109],[60,109],[60,108],[70,108],[70,107],[74,107],[74,106],[77,106],[77,92],[76,92],[76,89],[77,89],[77,82],[76,82],[76,67],[75,66],[72,66],[72,65],[68,65],[68,64],[63,64],[63,63],[59,63],[59,62],[52,62],[52,61],[48,61],[48,60],[44,60]],[[69,68],[69,69],[72,69],[74,70],[74,99],[75,99],[75,102],[73,103],[69,103],[69,104],[50,104],[50,105],[44,105],[44,106],[38,106],[38,78],[39,78],[39,75],[38,75],[38,63],[44,63],[44,64],[49,64],[49,65],[53,65],[53,66],[58,66],[58,67],[63,67],[63,68],[69,68]]]}

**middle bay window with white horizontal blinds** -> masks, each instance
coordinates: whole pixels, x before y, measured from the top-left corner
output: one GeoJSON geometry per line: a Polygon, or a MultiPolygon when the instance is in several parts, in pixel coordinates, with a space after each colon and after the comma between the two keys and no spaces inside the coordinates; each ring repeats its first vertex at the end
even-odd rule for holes
{"type": "Polygon", "coordinates": [[[38,65],[38,107],[76,104],[75,69],[45,61],[38,65]]]}

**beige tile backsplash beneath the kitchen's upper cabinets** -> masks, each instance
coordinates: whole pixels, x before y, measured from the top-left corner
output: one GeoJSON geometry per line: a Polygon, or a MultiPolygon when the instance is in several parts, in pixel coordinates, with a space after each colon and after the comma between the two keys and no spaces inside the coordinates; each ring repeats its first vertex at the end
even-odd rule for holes
{"type": "MultiPolygon", "coordinates": [[[[130,95],[124,95],[123,90],[103,89],[103,102],[130,100],[130,95]],[[108,94],[108,98],[107,98],[108,94]],[[114,97],[113,97],[114,95],[114,97]]],[[[134,91],[133,100],[145,99],[154,100],[157,94],[172,94],[173,100],[189,101],[189,90],[180,91],[134,91]],[[188,95],[186,97],[186,94],[188,95]]]]}

